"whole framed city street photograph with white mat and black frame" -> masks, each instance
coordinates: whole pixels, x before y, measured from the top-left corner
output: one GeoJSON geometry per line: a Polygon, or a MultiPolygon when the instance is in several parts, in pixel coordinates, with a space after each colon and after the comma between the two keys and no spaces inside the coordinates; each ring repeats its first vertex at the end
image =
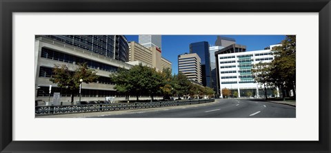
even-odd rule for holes
{"type": "MultiPolygon", "coordinates": [[[[0,152],[330,152],[330,0],[0,0],[0,8],[0,152]],[[155,40],[160,41],[162,35],[162,42],[165,43],[161,47],[161,42],[155,41],[150,45],[156,47],[147,46],[147,43],[141,41],[146,39],[140,38],[142,35],[153,36],[155,40]],[[168,61],[171,67],[171,56],[178,63],[183,62],[181,60],[185,63],[188,58],[205,62],[203,58],[200,59],[199,56],[202,55],[199,52],[191,54],[194,52],[191,51],[192,48],[197,48],[193,46],[197,45],[194,42],[201,41],[201,39],[192,39],[194,36],[203,39],[212,37],[213,42],[217,38],[216,46],[210,45],[211,43],[199,43],[199,45],[209,48],[205,52],[210,53],[210,50],[214,50],[212,55],[217,57],[215,68],[219,68],[217,72],[220,76],[215,81],[218,85],[226,87],[225,89],[217,87],[222,90],[217,91],[220,94],[217,95],[218,98],[235,99],[217,99],[217,102],[214,102],[209,100],[209,96],[214,94],[201,96],[201,92],[207,90],[199,90],[201,92],[192,92],[193,94],[176,92],[177,100],[183,100],[180,103],[177,101],[137,104],[138,98],[143,99],[143,96],[137,94],[137,101],[134,101],[132,100],[136,98],[134,96],[130,99],[126,94],[122,96],[116,94],[114,97],[120,97],[121,103],[112,104],[113,92],[98,89],[108,88],[108,84],[111,84],[104,78],[105,76],[97,80],[97,83],[103,83],[102,85],[94,86],[88,85],[86,79],[75,79],[74,90],[79,93],[76,93],[76,97],[73,94],[70,96],[68,90],[71,88],[70,85],[61,87],[57,84],[59,81],[54,80],[53,84],[50,83],[54,73],[51,66],[59,61],[66,63],[69,69],[83,68],[80,64],[84,62],[87,63],[88,68],[103,71],[112,69],[104,64],[107,62],[119,64],[124,69],[126,66],[131,68],[133,63],[129,65],[120,62],[128,61],[126,54],[121,54],[120,50],[128,49],[129,43],[131,53],[132,50],[141,52],[139,48],[158,52],[159,54],[155,56],[159,57],[159,61],[163,61],[165,66],[168,61]],[[143,45],[135,44],[134,41],[138,41],[138,37],[141,39],[139,43],[143,45]],[[244,74],[248,73],[246,70],[242,71],[243,75],[240,73],[240,76],[228,74],[234,73],[229,70],[221,72],[221,68],[230,66],[227,63],[232,57],[239,58],[237,61],[239,63],[236,63],[239,65],[238,70],[242,70],[243,67],[250,68],[252,62],[247,61],[248,58],[252,58],[254,62],[274,60],[269,52],[275,46],[282,46],[271,42],[261,50],[254,50],[250,48],[251,45],[247,45],[249,52],[245,52],[245,44],[232,43],[235,42],[234,39],[244,37],[263,45],[267,44],[263,43],[265,41],[263,39],[267,37],[277,38],[275,40],[278,43],[281,39],[287,41],[294,39],[292,44],[294,42],[298,52],[294,55],[288,54],[287,59],[292,61],[290,59],[292,56],[296,60],[292,62],[296,77],[291,88],[287,88],[287,92],[283,92],[282,95],[287,93],[293,97],[294,94],[298,103],[293,104],[290,101],[290,105],[296,106],[278,104],[277,106],[264,102],[261,104],[254,99],[262,95],[265,99],[268,95],[270,99],[277,98],[279,88],[272,88],[268,92],[266,88],[263,90],[262,86],[253,83],[252,74],[244,74]],[[183,45],[186,39],[190,39],[190,47],[185,44],[186,49],[185,47],[168,48],[170,45],[183,45]],[[95,43],[93,40],[98,42],[95,43]],[[113,41],[114,44],[109,43],[108,46],[108,41],[113,41]],[[90,43],[92,48],[95,46],[97,49],[89,48],[90,43]],[[103,46],[103,43],[106,45],[103,46]],[[230,45],[219,48],[227,43],[230,45]],[[138,47],[134,49],[132,46],[138,47]],[[233,50],[227,46],[232,46],[233,50]],[[112,50],[108,50],[108,47],[112,47],[112,50]],[[97,54],[86,50],[92,50],[97,54]],[[116,54],[114,50],[120,53],[116,54]],[[170,52],[168,50],[172,50],[169,57],[165,55],[170,52]],[[185,53],[188,51],[190,54],[185,53]],[[253,54],[250,51],[256,52],[253,54]],[[109,55],[110,53],[114,54],[109,55]],[[88,54],[91,58],[84,59],[83,57],[87,56],[84,54],[88,54]],[[233,56],[229,57],[228,54],[233,56]],[[238,80],[236,83],[229,81],[234,78],[238,80]],[[239,81],[246,86],[235,88],[235,85],[240,85],[239,81]],[[254,87],[248,87],[249,83],[254,87]],[[51,85],[48,87],[48,84],[51,85]],[[96,89],[98,91],[94,91],[96,89]],[[95,92],[97,96],[94,95],[95,92]],[[93,101],[88,101],[90,97],[86,95],[92,95],[93,101]],[[65,101],[59,101],[59,97],[65,101]],[[105,98],[105,104],[102,104],[105,98]],[[196,114],[190,115],[188,112],[179,116],[174,112],[171,115],[165,114],[171,110],[164,108],[165,106],[183,105],[179,106],[180,110],[186,111],[193,110],[201,103],[215,107],[203,110],[202,117],[196,114]],[[242,103],[261,105],[258,105],[258,109],[248,111],[241,108],[242,103]],[[222,105],[228,110],[223,109],[222,105]],[[148,116],[152,113],[137,110],[137,108],[154,106],[157,107],[155,109],[163,109],[161,110],[163,114],[148,116]],[[134,110],[123,116],[108,118],[105,114],[101,114],[107,109],[132,107],[134,110]],[[236,116],[235,107],[245,115],[236,116]],[[265,114],[259,109],[274,110],[270,114],[265,114]],[[83,110],[92,112],[95,110],[101,113],[94,116],[84,116],[83,114],[86,113],[79,113],[81,116],[61,117],[62,114],[71,115],[70,111],[83,110]],[[139,115],[147,117],[139,117],[139,115]]],[[[132,56],[133,54],[130,54],[130,58],[132,56]]],[[[154,70],[161,69],[161,65],[153,66],[154,70]]],[[[172,66],[174,66],[173,61],[172,66]]],[[[179,69],[183,70],[177,63],[175,66],[178,66],[178,72],[181,72],[179,69]]],[[[289,69],[285,70],[283,74],[291,74],[289,69]]],[[[176,74],[177,68],[172,73],[176,74]]],[[[145,76],[146,78],[148,76],[145,76]]],[[[197,77],[197,88],[199,84],[203,84],[199,83],[199,79],[197,77]]],[[[119,83],[115,84],[119,85],[119,83]]],[[[284,83],[280,86],[283,87],[282,85],[284,86],[284,83]]],[[[172,90],[177,89],[172,88],[172,90]]],[[[146,101],[160,98],[152,94],[150,97],[151,100],[146,101]]],[[[164,95],[161,98],[164,100],[164,95]]],[[[174,96],[169,96],[169,99],[176,100],[174,96]]]]}

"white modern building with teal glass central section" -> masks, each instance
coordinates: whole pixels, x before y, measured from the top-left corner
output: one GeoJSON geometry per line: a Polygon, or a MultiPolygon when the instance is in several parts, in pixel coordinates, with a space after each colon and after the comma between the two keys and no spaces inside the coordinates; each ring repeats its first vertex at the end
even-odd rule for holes
{"type": "MultiPolygon", "coordinates": [[[[270,45],[270,48],[274,46],[270,45]]],[[[274,55],[270,49],[228,54],[217,53],[221,52],[215,53],[217,57],[217,83],[219,91],[227,88],[232,91],[232,95],[237,91],[238,97],[247,96],[247,92],[251,92],[252,96],[256,97],[264,96],[264,86],[254,81],[251,70],[256,63],[271,62],[274,59],[274,55]]],[[[267,96],[275,96],[272,95],[274,90],[268,89],[267,96]]],[[[220,94],[223,97],[221,92],[220,94]]]]}

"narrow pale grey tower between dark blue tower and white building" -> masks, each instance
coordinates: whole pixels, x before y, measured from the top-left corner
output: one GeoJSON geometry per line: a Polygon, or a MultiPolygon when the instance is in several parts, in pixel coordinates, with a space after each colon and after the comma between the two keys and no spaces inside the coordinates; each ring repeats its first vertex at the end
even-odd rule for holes
{"type": "Polygon", "coordinates": [[[223,49],[223,46],[212,46],[209,48],[209,56],[210,56],[210,72],[211,72],[211,88],[214,92],[217,93],[217,70],[216,70],[216,59],[215,59],[215,52],[223,49]]]}

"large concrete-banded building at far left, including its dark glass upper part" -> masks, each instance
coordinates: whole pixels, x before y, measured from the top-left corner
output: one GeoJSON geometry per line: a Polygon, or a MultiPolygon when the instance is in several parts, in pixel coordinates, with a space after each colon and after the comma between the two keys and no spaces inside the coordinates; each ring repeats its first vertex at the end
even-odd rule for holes
{"type": "MultiPolygon", "coordinates": [[[[54,37],[58,38],[59,36],[54,37]]],[[[121,37],[119,36],[119,38],[121,37]]],[[[86,43],[86,41],[83,41],[83,43],[74,42],[77,44],[86,43]]],[[[106,54],[101,55],[102,52],[94,52],[96,51],[94,50],[95,48],[93,49],[94,51],[92,48],[89,48],[89,50],[82,49],[83,45],[68,45],[68,43],[63,42],[63,39],[50,39],[49,36],[37,36],[34,46],[35,100],[41,102],[41,104],[43,101],[48,101],[49,96],[52,101],[54,92],[60,92],[60,101],[63,101],[63,105],[70,105],[70,91],[66,90],[66,88],[58,88],[57,83],[50,81],[50,77],[52,77],[54,65],[65,64],[69,70],[74,71],[78,68],[79,63],[87,63],[88,68],[95,70],[99,76],[97,82],[82,84],[81,101],[105,101],[106,96],[115,96],[117,101],[126,99],[125,95],[114,90],[114,83],[110,81],[109,75],[117,72],[119,68],[130,69],[133,65],[108,57],[106,54]],[[50,85],[52,85],[52,88],[49,94],[50,85]]],[[[92,46],[95,47],[96,45],[92,46]]],[[[123,43],[118,43],[115,49],[127,48],[127,46],[128,42],[124,41],[123,43]]],[[[121,54],[126,54],[122,53],[122,51],[126,52],[126,50],[118,51],[118,57],[121,57],[121,54]]],[[[135,99],[135,97],[132,97],[132,99],[135,99]]],[[[149,99],[149,96],[143,96],[141,99],[149,99]]],[[[79,91],[74,93],[74,101],[79,101],[79,91]]]]}

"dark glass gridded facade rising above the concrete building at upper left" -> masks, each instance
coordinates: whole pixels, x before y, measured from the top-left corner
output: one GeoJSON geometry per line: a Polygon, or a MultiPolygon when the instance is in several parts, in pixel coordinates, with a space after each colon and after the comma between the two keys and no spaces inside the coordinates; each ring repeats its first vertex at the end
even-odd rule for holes
{"type": "MultiPolygon", "coordinates": [[[[41,36],[37,36],[41,37],[41,36]]],[[[129,45],[123,35],[43,35],[74,48],[94,52],[110,59],[128,61],[129,45]]]]}

